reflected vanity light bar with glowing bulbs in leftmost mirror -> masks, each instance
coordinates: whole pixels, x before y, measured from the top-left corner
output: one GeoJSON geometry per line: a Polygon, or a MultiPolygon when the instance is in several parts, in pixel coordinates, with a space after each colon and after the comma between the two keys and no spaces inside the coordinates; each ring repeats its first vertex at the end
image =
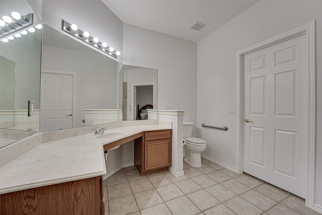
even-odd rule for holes
{"type": "Polygon", "coordinates": [[[21,16],[19,13],[13,12],[11,16],[12,18],[10,16],[3,16],[0,20],[0,38],[20,31],[33,24],[33,14],[31,13],[26,16],[21,16]]]}

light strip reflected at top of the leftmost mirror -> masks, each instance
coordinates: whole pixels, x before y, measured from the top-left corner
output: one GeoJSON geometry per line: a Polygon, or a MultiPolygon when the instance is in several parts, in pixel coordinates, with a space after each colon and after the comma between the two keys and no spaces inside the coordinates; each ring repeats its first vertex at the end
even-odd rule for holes
{"type": "Polygon", "coordinates": [[[7,26],[1,27],[0,38],[8,36],[14,32],[20,31],[33,24],[33,14],[27,14],[26,16],[21,16],[20,20],[13,19],[14,22],[8,24],[7,26]]]}

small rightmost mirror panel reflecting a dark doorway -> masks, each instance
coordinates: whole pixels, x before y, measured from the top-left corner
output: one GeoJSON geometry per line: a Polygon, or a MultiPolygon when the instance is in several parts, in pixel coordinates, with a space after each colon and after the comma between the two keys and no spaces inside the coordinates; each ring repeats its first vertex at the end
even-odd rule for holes
{"type": "Polygon", "coordinates": [[[124,65],[123,120],[148,119],[147,109],[157,109],[157,69],[124,65]]]}

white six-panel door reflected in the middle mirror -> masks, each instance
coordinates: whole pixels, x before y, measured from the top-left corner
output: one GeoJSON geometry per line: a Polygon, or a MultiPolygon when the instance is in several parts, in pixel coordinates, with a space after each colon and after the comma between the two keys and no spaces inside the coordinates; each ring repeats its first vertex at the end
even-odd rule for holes
{"type": "Polygon", "coordinates": [[[72,128],[73,77],[72,75],[41,74],[41,131],[72,128]]]}

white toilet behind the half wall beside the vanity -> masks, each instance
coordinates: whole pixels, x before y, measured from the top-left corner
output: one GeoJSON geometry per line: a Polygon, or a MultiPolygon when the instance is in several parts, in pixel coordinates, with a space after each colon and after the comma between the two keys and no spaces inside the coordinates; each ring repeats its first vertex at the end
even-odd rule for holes
{"type": "Polygon", "coordinates": [[[193,167],[201,167],[200,153],[205,151],[207,142],[204,139],[200,139],[192,136],[193,123],[183,123],[183,137],[185,140],[184,145],[184,161],[193,167]]]}

